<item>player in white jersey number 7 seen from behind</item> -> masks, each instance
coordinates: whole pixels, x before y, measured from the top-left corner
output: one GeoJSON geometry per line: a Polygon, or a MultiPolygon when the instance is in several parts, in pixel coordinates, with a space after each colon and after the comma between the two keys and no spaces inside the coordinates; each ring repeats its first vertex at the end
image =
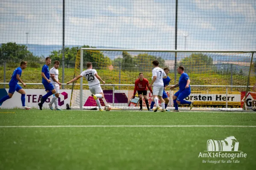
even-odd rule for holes
{"type": "Polygon", "coordinates": [[[163,91],[164,91],[163,78],[166,79],[167,76],[165,74],[165,71],[159,67],[159,62],[157,60],[154,60],[152,62],[152,64],[154,66],[154,69],[152,70],[152,82],[149,85],[149,88],[151,88],[152,85],[154,85],[153,97],[154,97],[154,101],[156,103],[156,109],[154,110],[154,112],[156,112],[160,108],[159,104],[158,104],[158,99],[160,100],[161,106],[162,106],[161,112],[165,112],[165,101],[162,98],[162,96],[163,96],[163,91]]]}

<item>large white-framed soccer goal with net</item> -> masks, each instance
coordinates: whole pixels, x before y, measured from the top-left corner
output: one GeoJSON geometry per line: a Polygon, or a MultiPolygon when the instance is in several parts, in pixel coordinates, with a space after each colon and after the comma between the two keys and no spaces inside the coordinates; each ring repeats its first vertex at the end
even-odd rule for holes
{"type": "MultiPolygon", "coordinates": [[[[193,101],[193,109],[209,110],[250,110],[256,107],[256,92],[252,86],[256,82],[256,51],[198,51],[198,50],[139,50],[81,48],[77,52],[74,77],[92,62],[93,69],[106,82],[101,85],[106,100],[101,105],[112,105],[113,109],[139,109],[139,97],[132,99],[134,82],[139,73],[151,82],[152,61],[158,60],[161,68],[169,68],[170,86],[179,82],[177,67],[183,66],[191,80],[191,94],[185,100],[193,101]]],[[[170,101],[168,109],[173,109],[172,96],[179,88],[165,91],[170,101]]],[[[147,93],[149,104],[153,100],[147,93]]],[[[71,108],[95,109],[97,104],[85,79],[73,83],[71,108]]],[[[143,108],[146,105],[143,99],[143,108]]],[[[188,109],[188,105],[179,105],[188,109]]]]}

